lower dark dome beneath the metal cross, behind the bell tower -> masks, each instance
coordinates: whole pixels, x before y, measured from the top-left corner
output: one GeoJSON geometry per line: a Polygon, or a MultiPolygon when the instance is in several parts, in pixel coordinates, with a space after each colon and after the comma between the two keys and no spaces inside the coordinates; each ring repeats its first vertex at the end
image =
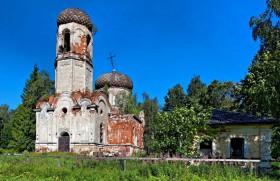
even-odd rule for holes
{"type": "Polygon", "coordinates": [[[127,75],[115,71],[103,74],[97,78],[95,82],[96,89],[100,89],[105,85],[108,85],[109,87],[122,87],[130,90],[133,88],[133,83],[127,75]]]}

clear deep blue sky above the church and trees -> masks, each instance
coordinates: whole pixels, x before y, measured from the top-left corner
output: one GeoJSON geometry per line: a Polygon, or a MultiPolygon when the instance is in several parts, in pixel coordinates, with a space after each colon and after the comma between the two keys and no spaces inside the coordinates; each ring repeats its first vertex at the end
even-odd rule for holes
{"type": "Polygon", "coordinates": [[[34,64],[54,79],[56,18],[69,7],[89,14],[94,37],[94,81],[111,72],[129,75],[141,101],[147,92],[164,104],[169,88],[200,75],[209,84],[240,81],[259,44],[249,19],[265,0],[0,0],[0,104],[15,109],[34,64]]]}

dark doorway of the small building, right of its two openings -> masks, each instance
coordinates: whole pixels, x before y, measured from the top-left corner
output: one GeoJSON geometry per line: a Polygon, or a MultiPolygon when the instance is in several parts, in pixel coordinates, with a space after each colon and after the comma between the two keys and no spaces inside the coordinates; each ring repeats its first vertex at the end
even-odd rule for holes
{"type": "Polygon", "coordinates": [[[244,139],[230,139],[230,158],[244,158],[244,139]]]}

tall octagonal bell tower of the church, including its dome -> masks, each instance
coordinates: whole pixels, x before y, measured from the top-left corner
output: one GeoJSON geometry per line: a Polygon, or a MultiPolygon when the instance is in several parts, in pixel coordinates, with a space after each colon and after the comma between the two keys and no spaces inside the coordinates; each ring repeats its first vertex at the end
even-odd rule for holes
{"type": "Polygon", "coordinates": [[[55,92],[92,91],[93,35],[96,28],[82,10],[68,8],[57,18],[55,92]]]}

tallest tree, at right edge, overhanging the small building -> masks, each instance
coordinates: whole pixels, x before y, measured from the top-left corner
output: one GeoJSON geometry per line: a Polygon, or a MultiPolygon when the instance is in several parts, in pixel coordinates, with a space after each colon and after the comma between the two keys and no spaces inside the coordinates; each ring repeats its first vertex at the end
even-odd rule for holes
{"type": "MultiPolygon", "coordinates": [[[[265,12],[252,17],[253,39],[260,49],[241,82],[239,110],[265,117],[280,118],[280,1],[267,0],[265,12]]],[[[279,127],[274,130],[272,151],[280,157],[279,127]]]]}

